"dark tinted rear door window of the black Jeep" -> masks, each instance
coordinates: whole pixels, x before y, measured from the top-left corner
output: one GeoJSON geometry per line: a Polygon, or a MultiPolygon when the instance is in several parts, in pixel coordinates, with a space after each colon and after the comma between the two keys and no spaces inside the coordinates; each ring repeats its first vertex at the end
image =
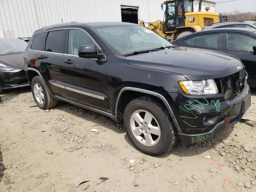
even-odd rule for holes
{"type": "Polygon", "coordinates": [[[50,31],[46,38],[45,50],[64,53],[65,30],[50,31]]]}

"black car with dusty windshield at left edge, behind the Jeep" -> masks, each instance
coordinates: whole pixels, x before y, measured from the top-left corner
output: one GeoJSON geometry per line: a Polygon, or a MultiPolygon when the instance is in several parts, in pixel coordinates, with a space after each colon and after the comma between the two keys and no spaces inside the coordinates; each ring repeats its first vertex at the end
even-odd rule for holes
{"type": "Polygon", "coordinates": [[[18,38],[0,38],[0,93],[5,89],[29,86],[23,58],[27,45],[18,38]]]}

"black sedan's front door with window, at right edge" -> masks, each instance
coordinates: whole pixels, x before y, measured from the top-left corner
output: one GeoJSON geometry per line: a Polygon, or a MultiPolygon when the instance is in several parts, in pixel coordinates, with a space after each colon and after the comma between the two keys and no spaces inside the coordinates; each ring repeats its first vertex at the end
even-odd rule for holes
{"type": "Polygon", "coordinates": [[[256,85],[256,55],[252,48],[256,45],[256,38],[242,33],[224,33],[223,40],[223,52],[240,58],[249,75],[248,84],[256,85]]]}

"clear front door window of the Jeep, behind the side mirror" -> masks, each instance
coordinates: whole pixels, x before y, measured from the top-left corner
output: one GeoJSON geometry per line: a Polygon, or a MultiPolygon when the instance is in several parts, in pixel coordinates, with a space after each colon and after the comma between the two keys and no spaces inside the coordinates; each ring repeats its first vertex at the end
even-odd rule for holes
{"type": "Polygon", "coordinates": [[[96,45],[90,36],[78,29],[70,29],[68,34],[68,54],[78,55],[78,49],[82,45],[96,45]]]}

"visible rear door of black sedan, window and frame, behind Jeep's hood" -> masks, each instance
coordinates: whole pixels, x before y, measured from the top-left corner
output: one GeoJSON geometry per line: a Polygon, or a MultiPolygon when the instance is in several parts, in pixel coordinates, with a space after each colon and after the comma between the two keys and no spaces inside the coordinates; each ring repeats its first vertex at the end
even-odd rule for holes
{"type": "Polygon", "coordinates": [[[193,36],[184,40],[183,46],[222,52],[222,33],[193,36]]]}

